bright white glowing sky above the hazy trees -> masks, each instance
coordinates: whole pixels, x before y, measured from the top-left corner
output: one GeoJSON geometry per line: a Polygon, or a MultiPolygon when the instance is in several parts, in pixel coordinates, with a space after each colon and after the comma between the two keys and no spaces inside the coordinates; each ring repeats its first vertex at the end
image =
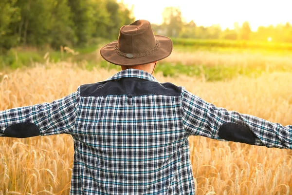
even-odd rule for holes
{"type": "Polygon", "coordinates": [[[249,21],[253,31],[258,26],[292,23],[292,0],[118,0],[133,5],[136,20],[149,20],[161,24],[164,7],[180,7],[186,22],[197,25],[220,24],[222,29],[233,29],[234,22],[241,25],[249,21]]]}

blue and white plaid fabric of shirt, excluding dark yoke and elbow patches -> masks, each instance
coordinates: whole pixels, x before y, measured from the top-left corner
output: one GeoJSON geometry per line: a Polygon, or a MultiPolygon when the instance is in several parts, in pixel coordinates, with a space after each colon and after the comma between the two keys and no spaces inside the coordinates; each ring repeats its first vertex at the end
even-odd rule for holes
{"type": "MultiPolygon", "coordinates": [[[[145,71],[128,69],[108,80],[135,77],[158,82],[145,71]]],[[[249,127],[255,145],[292,149],[292,126],[217,108],[189,93],[181,96],[73,94],[51,103],[0,112],[0,136],[16,123],[33,122],[40,135],[67,133],[74,139],[71,194],[193,195],[188,137],[218,136],[222,124],[249,127]]],[[[235,129],[236,131],[236,129],[235,129]]]]}

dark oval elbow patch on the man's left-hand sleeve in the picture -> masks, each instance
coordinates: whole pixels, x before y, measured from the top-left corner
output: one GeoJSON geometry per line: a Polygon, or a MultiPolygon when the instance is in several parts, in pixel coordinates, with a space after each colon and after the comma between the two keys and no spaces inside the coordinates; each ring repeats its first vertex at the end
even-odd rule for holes
{"type": "Polygon", "coordinates": [[[4,131],[6,137],[26,138],[39,136],[39,128],[32,122],[21,122],[10,125],[4,131]]]}

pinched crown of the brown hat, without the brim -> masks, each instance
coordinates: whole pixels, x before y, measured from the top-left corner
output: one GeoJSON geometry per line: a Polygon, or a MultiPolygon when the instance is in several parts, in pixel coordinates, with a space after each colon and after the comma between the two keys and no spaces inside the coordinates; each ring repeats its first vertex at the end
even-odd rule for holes
{"type": "Polygon", "coordinates": [[[156,39],[147,20],[136,20],[122,26],[118,38],[118,48],[124,53],[145,53],[153,49],[156,39]]]}

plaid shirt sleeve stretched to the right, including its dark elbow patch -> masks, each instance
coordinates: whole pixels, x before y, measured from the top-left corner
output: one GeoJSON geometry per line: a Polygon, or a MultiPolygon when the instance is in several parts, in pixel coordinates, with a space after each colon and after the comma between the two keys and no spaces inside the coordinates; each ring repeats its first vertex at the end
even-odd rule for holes
{"type": "Polygon", "coordinates": [[[188,135],[292,149],[292,125],[217,108],[183,89],[183,126],[188,135]]]}

